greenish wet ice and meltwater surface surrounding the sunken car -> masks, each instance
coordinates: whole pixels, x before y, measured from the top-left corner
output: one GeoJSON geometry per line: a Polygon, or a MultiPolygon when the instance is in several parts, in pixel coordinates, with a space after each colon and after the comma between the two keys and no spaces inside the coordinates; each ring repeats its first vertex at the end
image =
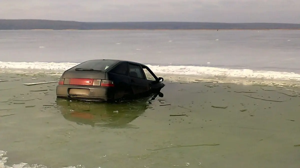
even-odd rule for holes
{"type": "Polygon", "coordinates": [[[176,78],[166,82],[163,98],[119,104],[56,100],[55,83],[22,85],[58,77],[1,75],[0,80],[10,80],[0,82],[0,149],[7,151],[1,159],[9,158],[3,165],[298,168],[300,164],[300,89],[295,85],[186,84],[176,78]]]}

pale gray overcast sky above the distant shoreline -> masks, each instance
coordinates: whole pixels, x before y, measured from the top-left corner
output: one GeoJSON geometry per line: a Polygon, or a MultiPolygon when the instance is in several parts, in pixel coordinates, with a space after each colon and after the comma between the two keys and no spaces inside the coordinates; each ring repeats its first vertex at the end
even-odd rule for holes
{"type": "Polygon", "coordinates": [[[0,18],[300,23],[300,0],[0,0],[0,18]]]}

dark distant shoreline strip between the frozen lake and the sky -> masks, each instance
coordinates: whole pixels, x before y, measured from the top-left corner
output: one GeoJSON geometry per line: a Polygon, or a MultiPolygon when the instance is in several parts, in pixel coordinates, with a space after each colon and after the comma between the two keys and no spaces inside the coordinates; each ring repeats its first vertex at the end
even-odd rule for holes
{"type": "Polygon", "coordinates": [[[76,22],[0,19],[0,30],[300,30],[292,23],[76,22]]]}

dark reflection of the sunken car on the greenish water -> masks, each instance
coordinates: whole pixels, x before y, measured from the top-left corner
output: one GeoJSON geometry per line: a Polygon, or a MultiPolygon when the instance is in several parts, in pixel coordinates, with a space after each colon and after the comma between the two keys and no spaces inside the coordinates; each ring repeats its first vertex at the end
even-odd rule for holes
{"type": "MultiPolygon", "coordinates": [[[[158,94],[155,94],[118,103],[83,102],[57,98],[56,104],[66,120],[79,125],[124,128],[130,126],[130,122],[143,114],[151,105],[151,100],[157,96],[158,94]]],[[[163,94],[160,93],[160,97],[162,96],[163,94]]]]}

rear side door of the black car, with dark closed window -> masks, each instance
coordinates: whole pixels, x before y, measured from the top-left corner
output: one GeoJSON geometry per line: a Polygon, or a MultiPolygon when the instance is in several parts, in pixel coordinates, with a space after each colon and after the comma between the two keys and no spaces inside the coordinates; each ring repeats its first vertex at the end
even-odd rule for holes
{"type": "Polygon", "coordinates": [[[142,67],[139,64],[129,63],[128,75],[134,94],[149,91],[149,82],[146,80],[142,67]]]}

